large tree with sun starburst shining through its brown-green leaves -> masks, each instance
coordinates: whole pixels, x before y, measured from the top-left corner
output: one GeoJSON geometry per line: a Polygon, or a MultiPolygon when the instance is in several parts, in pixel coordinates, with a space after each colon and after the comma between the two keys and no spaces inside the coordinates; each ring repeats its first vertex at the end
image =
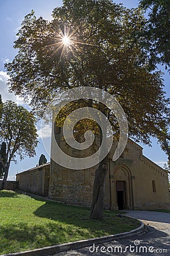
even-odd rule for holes
{"type": "MultiPolygon", "coordinates": [[[[15,41],[18,55],[6,64],[10,90],[31,98],[41,115],[62,90],[77,86],[103,89],[124,109],[130,137],[149,144],[150,137],[160,135],[165,127],[168,101],[161,73],[150,73],[147,63],[141,64],[134,32],[141,31],[144,23],[140,9],[125,9],[109,0],[65,0],[54,9],[50,22],[37,19],[32,12],[25,16],[15,41]]],[[[112,112],[94,101],[87,105],[103,112],[118,133],[112,112]]],[[[103,218],[107,163],[108,156],[96,169],[91,218],[103,218]]]]}

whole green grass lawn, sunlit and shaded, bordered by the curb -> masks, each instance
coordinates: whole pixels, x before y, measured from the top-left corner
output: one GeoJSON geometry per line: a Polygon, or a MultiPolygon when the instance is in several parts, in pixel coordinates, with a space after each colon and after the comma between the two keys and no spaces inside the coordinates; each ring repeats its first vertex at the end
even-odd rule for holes
{"type": "Polygon", "coordinates": [[[90,220],[90,209],[0,191],[0,254],[126,232],[140,224],[105,211],[90,220]]]}

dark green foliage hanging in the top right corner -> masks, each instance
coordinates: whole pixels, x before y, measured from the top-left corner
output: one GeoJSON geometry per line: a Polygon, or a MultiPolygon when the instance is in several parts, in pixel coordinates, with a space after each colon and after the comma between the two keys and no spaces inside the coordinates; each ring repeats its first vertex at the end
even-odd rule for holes
{"type": "MultiPolygon", "coordinates": [[[[169,0],[141,0],[141,6],[148,11],[142,44],[151,69],[158,63],[170,67],[170,2],[169,0]]],[[[170,72],[170,69],[169,69],[170,72]]]]}

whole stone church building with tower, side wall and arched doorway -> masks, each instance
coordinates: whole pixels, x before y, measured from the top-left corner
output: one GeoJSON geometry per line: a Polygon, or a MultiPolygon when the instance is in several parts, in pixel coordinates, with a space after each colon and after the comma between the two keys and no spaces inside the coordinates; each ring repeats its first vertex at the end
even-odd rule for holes
{"type": "MultiPolygon", "coordinates": [[[[61,132],[58,136],[61,139],[61,132]]],[[[115,148],[113,144],[111,151],[115,148]]],[[[20,172],[16,180],[23,191],[88,207],[92,201],[96,168],[70,170],[51,160],[20,172]]],[[[170,209],[167,172],[143,156],[142,147],[130,139],[121,157],[108,163],[104,207],[114,210],[170,209]]]]}

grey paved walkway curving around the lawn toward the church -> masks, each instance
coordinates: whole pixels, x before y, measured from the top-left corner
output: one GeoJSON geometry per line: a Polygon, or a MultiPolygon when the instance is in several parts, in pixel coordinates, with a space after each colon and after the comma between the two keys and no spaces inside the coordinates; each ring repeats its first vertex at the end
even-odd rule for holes
{"type": "Polygon", "coordinates": [[[149,212],[146,210],[128,210],[127,212],[127,216],[138,218],[147,225],[145,231],[142,234],[136,235],[135,237],[122,238],[119,240],[102,243],[92,247],[64,251],[63,253],[58,253],[54,256],[169,256],[170,213],[149,212]]]}

